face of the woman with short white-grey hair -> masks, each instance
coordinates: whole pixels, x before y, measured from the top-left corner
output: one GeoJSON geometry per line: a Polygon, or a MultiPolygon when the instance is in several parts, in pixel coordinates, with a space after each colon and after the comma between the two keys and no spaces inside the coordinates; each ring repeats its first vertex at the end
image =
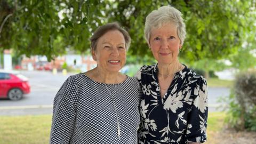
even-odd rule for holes
{"type": "Polygon", "coordinates": [[[153,28],[149,46],[158,63],[170,64],[177,61],[181,48],[177,27],[172,23],[166,23],[160,28],[153,28]]]}

